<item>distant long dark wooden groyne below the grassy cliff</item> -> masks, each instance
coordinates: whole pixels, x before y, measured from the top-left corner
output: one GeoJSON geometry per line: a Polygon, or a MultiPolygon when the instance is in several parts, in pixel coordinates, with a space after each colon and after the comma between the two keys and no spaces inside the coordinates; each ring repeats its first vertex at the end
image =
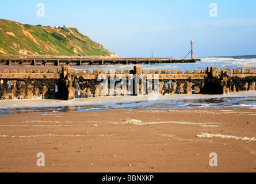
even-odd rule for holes
{"type": "Polygon", "coordinates": [[[125,57],[86,57],[75,58],[0,58],[0,66],[86,66],[108,64],[161,64],[161,63],[195,63],[201,59],[170,58],[125,58],[125,57]]]}

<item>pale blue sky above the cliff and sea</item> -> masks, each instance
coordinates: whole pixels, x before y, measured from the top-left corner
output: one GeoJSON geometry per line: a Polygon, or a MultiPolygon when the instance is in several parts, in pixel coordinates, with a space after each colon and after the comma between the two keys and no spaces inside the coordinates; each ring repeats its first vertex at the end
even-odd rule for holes
{"type": "Polygon", "coordinates": [[[185,57],[190,40],[194,57],[234,56],[256,55],[255,9],[255,0],[1,0],[0,18],[75,27],[123,57],[185,57]]]}

